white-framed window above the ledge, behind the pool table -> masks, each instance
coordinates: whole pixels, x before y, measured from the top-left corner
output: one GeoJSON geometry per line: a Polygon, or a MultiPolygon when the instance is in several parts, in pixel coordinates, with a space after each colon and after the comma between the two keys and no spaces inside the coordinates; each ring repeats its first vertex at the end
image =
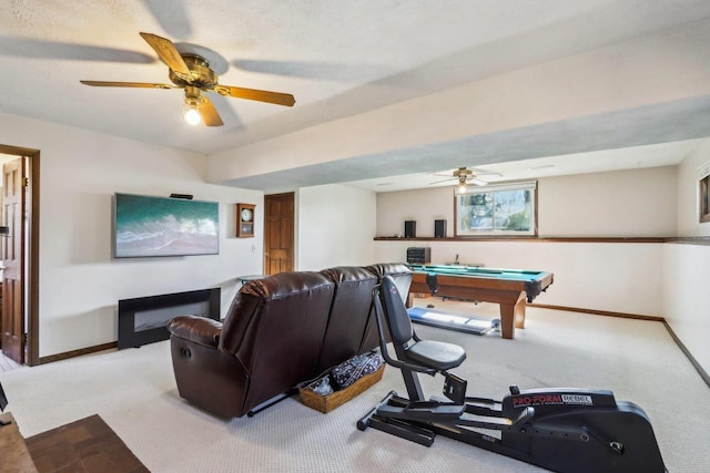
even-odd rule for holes
{"type": "Polygon", "coordinates": [[[456,236],[537,235],[537,182],[456,192],[456,236]]]}

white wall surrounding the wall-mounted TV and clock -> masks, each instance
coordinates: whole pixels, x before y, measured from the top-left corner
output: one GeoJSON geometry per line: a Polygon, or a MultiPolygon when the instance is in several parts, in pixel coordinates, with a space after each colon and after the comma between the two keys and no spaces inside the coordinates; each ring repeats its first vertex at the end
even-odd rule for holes
{"type": "Polygon", "coordinates": [[[40,356],[116,340],[119,299],[222,288],[262,271],[263,195],[205,183],[205,157],[0,114],[0,143],[40,151],[40,356]],[[112,259],[115,192],[220,202],[220,254],[112,259]],[[256,238],[234,237],[235,203],[256,204],[256,238]]]}

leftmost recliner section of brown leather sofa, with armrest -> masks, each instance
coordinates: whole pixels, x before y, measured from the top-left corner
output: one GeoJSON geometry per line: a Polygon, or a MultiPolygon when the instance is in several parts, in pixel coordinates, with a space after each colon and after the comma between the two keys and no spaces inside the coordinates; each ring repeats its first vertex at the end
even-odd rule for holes
{"type": "Polygon", "coordinates": [[[282,273],[244,285],[224,326],[176,317],[169,326],[180,395],[242,417],[318,374],[335,285],[318,273],[282,273]]]}

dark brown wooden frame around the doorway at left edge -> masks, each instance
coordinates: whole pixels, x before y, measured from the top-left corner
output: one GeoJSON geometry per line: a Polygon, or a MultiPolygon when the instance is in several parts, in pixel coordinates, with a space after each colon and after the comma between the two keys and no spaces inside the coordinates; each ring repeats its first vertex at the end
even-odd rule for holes
{"type": "Polygon", "coordinates": [[[27,156],[30,169],[29,177],[29,225],[27,228],[27,243],[22,250],[26,256],[27,270],[22,275],[28,305],[24,308],[27,326],[27,345],[24,346],[24,363],[33,367],[40,364],[40,152],[29,147],[0,144],[0,153],[14,156],[27,156]]]}

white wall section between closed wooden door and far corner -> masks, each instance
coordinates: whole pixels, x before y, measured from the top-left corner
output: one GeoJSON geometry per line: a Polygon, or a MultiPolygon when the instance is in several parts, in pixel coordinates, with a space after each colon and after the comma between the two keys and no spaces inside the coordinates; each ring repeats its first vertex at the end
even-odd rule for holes
{"type": "Polygon", "coordinates": [[[365,266],[374,260],[375,194],[344,185],[303,187],[297,198],[297,268],[365,266]]]}

